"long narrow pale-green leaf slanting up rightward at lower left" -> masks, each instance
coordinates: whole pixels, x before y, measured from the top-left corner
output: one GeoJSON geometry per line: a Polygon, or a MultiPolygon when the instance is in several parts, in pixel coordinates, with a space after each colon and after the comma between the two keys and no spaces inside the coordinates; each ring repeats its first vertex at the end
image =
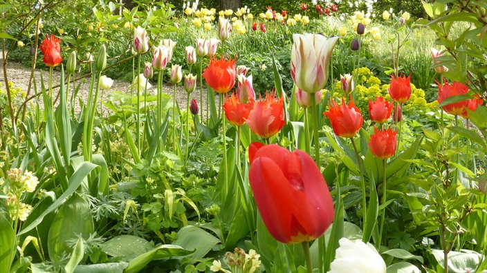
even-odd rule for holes
{"type": "Polygon", "coordinates": [[[64,201],[66,201],[68,196],[71,196],[71,194],[73,194],[73,192],[75,192],[75,190],[81,185],[84,177],[86,177],[95,168],[100,168],[100,167],[98,167],[97,165],[95,165],[93,163],[89,163],[89,162],[82,163],[80,168],[78,168],[78,170],[73,174],[73,176],[71,176],[71,179],[69,179],[69,187],[64,191],[64,193],[61,196],[59,196],[59,198],[56,199],[56,201],[54,201],[46,210],[44,210],[44,212],[42,212],[42,214],[40,214],[37,217],[37,219],[32,221],[32,223],[30,223],[30,225],[26,226],[26,228],[23,228],[21,230],[21,232],[19,232],[17,234],[17,236],[19,236],[21,234],[25,234],[26,232],[29,232],[30,230],[35,228],[37,225],[39,225],[39,223],[42,222],[42,219],[44,219],[44,217],[47,214],[49,214],[50,212],[53,212],[54,210],[59,208],[59,206],[62,205],[62,203],[64,203],[64,201]]]}

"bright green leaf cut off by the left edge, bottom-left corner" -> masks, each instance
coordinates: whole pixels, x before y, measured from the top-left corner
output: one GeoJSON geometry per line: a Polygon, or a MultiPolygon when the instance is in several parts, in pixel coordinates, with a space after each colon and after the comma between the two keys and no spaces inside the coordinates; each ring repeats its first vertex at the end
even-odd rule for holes
{"type": "Polygon", "coordinates": [[[10,272],[16,247],[12,225],[3,215],[0,215],[0,272],[10,272]]]}

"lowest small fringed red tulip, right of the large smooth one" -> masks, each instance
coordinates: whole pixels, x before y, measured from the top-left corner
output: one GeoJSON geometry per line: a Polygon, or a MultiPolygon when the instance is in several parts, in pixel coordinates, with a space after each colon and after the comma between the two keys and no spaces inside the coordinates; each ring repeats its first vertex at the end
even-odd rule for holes
{"type": "Polygon", "coordinates": [[[397,132],[389,130],[378,130],[374,127],[374,134],[370,136],[369,149],[379,159],[388,159],[396,153],[397,132]]]}

